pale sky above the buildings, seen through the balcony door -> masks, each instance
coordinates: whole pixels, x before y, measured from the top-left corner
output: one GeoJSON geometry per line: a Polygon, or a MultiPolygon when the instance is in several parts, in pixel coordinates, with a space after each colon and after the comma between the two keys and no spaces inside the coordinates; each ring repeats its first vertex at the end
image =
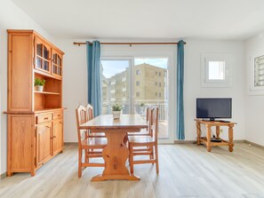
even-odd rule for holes
{"type": "MultiPolygon", "coordinates": [[[[113,75],[121,73],[125,70],[125,68],[129,67],[130,60],[118,59],[118,60],[101,60],[101,65],[103,68],[102,74],[109,78],[113,75]]],[[[143,63],[147,63],[149,65],[153,65],[156,67],[167,68],[168,59],[146,59],[146,58],[136,58],[134,59],[135,65],[140,65],[143,63]]]]}

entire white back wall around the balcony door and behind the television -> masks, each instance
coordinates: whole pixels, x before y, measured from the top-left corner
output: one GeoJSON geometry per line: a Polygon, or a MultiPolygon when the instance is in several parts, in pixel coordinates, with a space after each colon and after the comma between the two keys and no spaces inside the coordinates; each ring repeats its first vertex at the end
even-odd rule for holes
{"type": "MultiPolygon", "coordinates": [[[[86,55],[85,46],[73,45],[78,40],[58,39],[58,46],[65,51],[63,104],[65,111],[65,141],[76,141],[76,118],[74,109],[80,104],[86,104],[86,55]],[[76,89],[78,88],[78,89],[76,89]]],[[[79,41],[84,42],[84,40],[79,41]]],[[[141,42],[141,41],[140,41],[141,42]]],[[[101,56],[161,56],[167,55],[175,64],[175,46],[120,46],[102,45],[101,56]]],[[[172,75],[172,74],[170,74],[172,75]]],[[[175,75],[174,84],[175,84],[175,75]]],[[[244,139],[244,43],[243,42],[213,42],[188,41],[185,45],[185,125],[186,139],[196,139],[196,98],[197,97],[231,97],[233,99],[232,121],[238,123],[235,127],[234,139],[244,139]],[[230,53],[233,67],[233,85],[230,88],[201,88],[200,86],[200,55],[201,53],[230,53]]],[[[174,89],[175,91],[175,89],[174,89]]],[[[174,95],[174,94],[173,94],[174,95]]],[[[174,96],[175,100],[175,96],[174,96]]],[[[175,118],[172,118],[173,126],[175,118]]],[[[225,132],[226,133],[226,132],[225,132]]],[[[226,133],[227,134],[227,133],[226,133]]],[[[225,138],[227,136],[223,134],[225,138]]],[[[174,131],[175,137],[175,131],[174,131]]]]}

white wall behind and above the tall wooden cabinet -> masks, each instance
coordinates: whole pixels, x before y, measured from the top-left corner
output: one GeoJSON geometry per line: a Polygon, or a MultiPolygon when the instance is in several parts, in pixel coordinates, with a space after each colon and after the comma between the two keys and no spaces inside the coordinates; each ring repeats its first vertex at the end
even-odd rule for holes
{"type": "Polygon", "coordinates": [[[7,33],[6,29],[34,29],[45,38],[53,41],[52,37],[28,15],[20,10],[10,0],[1,0],[0,6],[0,87],[1,87],[1,141],[0,141],[0,174],[6,171],[6,148],[7,148],[7,123],[6,115],[2,114],[7,110],[7,33]]]}

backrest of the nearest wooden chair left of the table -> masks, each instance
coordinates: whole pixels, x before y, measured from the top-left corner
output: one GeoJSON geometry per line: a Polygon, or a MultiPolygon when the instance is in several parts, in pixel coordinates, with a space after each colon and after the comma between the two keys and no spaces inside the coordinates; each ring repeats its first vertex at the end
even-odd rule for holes
{"type": "Polygon", "coordinates": [[[80,130],[80,125],[86,122],[88,122],[87,108],[80,105],[76,108],[76,123],[79,144],[88,137],[88,132],[86,130],[80,130]]]}

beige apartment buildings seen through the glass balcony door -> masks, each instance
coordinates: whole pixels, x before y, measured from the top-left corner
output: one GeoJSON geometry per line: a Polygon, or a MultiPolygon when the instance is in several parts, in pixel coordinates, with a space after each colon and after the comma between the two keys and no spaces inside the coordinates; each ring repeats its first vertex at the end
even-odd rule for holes
{"type": "MultiPolygon", "coordinates": [[[[143,100],[167,99],[166,83],[167,70],[149,64],[140,64],[132,67],[134,76],[134,99],[137,102],[143,100]]],[[[102,81],[103,103],[127,104],[130,99],[130,71],[113,75],[110,78],[103,76],[102,81]]]]}

